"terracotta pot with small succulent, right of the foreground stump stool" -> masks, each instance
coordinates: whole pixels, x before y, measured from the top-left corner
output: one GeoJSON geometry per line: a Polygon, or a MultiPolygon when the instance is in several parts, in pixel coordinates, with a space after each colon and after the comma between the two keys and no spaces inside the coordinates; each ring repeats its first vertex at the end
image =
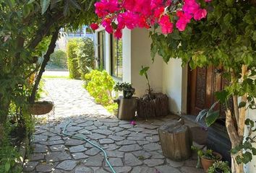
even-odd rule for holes
{"type": "Polygon", "coordinates": [[[222,159],[221,154],[218,154],[210,149],[202,150],[195,146],[192,146],[192,149],[197,151],[197,168],[199,168],[201,164],[205,172],[208,172],[209,167],[211,167],[214,162],[221,161],[222,159]]]}

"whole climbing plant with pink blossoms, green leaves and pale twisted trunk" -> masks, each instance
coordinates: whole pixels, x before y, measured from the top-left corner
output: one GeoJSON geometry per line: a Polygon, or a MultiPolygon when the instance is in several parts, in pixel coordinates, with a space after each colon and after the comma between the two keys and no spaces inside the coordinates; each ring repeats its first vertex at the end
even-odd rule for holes
{"type": "MultiPolygon", "coordinates": [[[[254,130],[254,122],[246,120],[246,112],[256,108],[255,6],[254,0],[101,1],[95,4],[95,12],[101,18],[98,23],[116,37],[121,37],[124,27],[150,29],[153,59],[158,53],[166,63],[170,58],[180,58],[182,66],[189,64],[192,69],[223,66],[223,76],[230,83],[216,93],[216,97],[226,104],[226,128],[233,148],[232,172],[237,173],[243,172],[243,164],[256,154],[252,147],[255,137],[244,138],[246,125],[254,130]],[[109,9],[108,3],[112,4],[109,9]],[[227,104],[229,98],[233,99],[233,105],[227,104]]],[[[98,25],[93,23],[91,27],[98,25]]],[[[208,111],[205,120],[211,125],[217,118],[218,112],[208,111]]]]}

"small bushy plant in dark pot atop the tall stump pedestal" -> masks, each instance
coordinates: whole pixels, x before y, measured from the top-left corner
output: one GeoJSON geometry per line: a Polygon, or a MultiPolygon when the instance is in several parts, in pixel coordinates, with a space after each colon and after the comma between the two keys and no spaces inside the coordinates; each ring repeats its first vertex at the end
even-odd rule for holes
{"type": "Polygon", "coordinates": [[[132,88],[132,84],[128,82],[117,82],[114,86],[116,92],[123,92],[124,99],[131,99],[132,95],[135,94],[135,89],[132,88]]]}

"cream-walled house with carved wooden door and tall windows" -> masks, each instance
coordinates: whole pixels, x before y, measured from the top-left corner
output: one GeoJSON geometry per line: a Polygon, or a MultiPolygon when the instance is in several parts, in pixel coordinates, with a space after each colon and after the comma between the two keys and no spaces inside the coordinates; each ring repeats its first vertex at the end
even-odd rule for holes
{"type": "MultiPolygon", "coordinates": [[[[195,121],[200,110],[213,105],[213,93],[222,89],[225,84],[226,81],[221,77],[222,69],[208,67],[192,71],[188,66],[182,68],[182,61],[179,59],[172,58],[166,64],[160,56],[156,56],[153,63],[148,32],[145,29],[124,29],[123,37],[116,40],[100,27],[95,32],[95,57],[98,58],[98,66],[108,71],[116,81],[132,83],[137,96],[145,94],[147,88],[144,77],[139,74],[141,66],[150,66],[148,75],[154,92],[168,95],[172,113],[185,115],[195,121]]],[[[218,106],[221,112],[224,108],[222,105],[218,106]]],[[[249,110],[248,116],[256,120],[256,111],[249,110]]],[[[208,128],[208,145],[229,160],[230,141],[224,118],[208,128]]],[[[247,172],[255,172],[255,156],[246,167],[247,172]]]]}

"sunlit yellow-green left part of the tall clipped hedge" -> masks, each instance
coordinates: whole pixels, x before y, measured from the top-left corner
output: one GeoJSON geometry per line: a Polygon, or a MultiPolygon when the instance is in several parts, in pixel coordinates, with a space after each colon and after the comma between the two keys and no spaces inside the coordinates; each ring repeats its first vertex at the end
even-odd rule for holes
{"type": "Polygon", "coordinates": [[[80,42],[81,39],[73,38],[67,43],[67,64],[71,79],[80,79],[81,76],[77,59],[77,48],[80,42]]]}

